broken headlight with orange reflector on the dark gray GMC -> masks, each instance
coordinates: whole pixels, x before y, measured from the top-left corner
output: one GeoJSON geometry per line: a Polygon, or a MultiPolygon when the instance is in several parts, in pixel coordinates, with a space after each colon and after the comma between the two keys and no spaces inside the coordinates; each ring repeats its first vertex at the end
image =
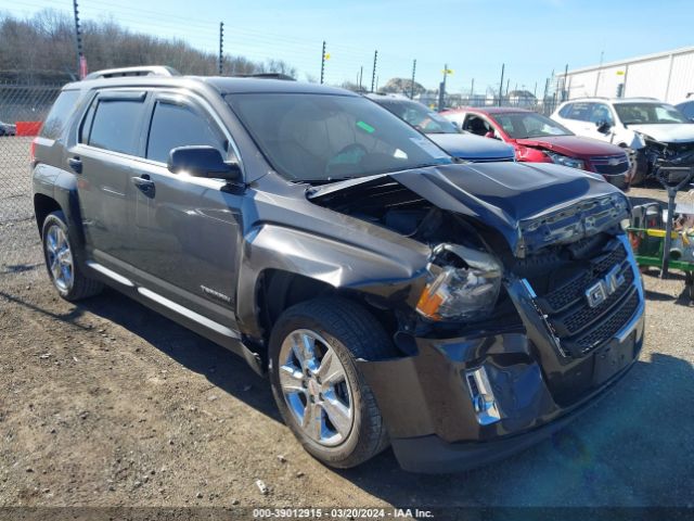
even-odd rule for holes
{"type": "Polygon", "coordinates": [[[494,308],[501,265],[488,253],[439,244],[427,266],[428,282],[416,305],[429,320],[477,320],[494,308]]]}

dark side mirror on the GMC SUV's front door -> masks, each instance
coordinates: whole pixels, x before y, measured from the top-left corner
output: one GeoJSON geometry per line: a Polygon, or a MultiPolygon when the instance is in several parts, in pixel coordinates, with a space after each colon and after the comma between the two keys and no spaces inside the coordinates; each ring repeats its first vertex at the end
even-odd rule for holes
{"type": "Polygon", "coordinates": [[[177,147],[169,152],[167,167],[171,174],[187,171],[194,177],[207,177],[236,181],[241,168],[235,163],[224,163],[221,153],[214,147],[177,147]]]}

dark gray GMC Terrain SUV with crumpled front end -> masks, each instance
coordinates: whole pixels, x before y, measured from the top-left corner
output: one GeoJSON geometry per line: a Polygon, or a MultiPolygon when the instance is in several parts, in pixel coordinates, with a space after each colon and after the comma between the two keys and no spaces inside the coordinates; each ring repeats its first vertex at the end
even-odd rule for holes
{"type": "Polygon", "coordinates": [[[599,176],[459,163],[336,88],[94,76],[33,145],[55,289],[106,283],[237,353],[321,461],[501,458],[637,359],[629,204],[599,176]]]}

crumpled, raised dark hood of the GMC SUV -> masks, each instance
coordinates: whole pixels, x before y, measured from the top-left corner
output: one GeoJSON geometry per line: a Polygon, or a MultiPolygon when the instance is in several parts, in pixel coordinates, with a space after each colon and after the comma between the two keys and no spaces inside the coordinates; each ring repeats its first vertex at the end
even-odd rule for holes
{"type": "Polygon", "coordinates": [[[383,185],[384,178],[441,209],[496,228],[519,257],[547,244],[589,237],[628,217],[626,196],[600,176],[544,163],[432,166],[325,185],[308,198],[363,190],[364,183],[383,185]]]}

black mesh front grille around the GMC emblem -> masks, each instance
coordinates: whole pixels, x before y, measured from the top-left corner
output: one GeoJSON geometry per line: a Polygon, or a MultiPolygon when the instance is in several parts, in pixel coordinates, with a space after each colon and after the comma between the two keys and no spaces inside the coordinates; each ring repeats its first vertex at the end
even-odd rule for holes
{"type": "Polygon", "coordinates": [[[621,242],[614,241],[606,251],[584,260],[558,288],[538,295],[536,302],[563,351],[580,357],[612,339],[631,319],[639,306],[634,280],[627,251],[621,242]],[[615,267],[618,267],[618,278],[624,281],[612,295],[591,307],[586,291],[615,267]]]}

